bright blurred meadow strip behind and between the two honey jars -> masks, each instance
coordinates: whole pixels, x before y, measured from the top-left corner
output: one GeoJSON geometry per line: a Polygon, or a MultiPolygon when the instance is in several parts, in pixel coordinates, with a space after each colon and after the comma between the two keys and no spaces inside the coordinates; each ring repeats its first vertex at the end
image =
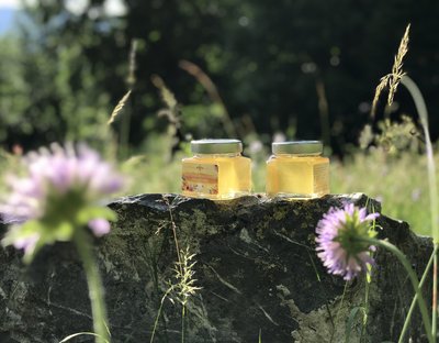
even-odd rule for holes
{"type": "MultiPolygon", "coordinates": [[[[156,136],[143,154],[116,161],[119,169],[127,177],[127,187],[119,196],[137,193],[179,193],[181,188],[181,158],[190,156],[188,150],[170,153],[171,139],[156,136]]],[[[249,144],[245,155],[252,159],[254,191],[264,191],[266,159],[269,146],[260,142],[249,144]],[[251,150],[250,147],[257,146],[251,150]]],[[[407,221],[418,234],[430,232],[428,208],[427,162],[424,154],[410,150],[396,156],[379,147],[357,150],[344,161],[330,157],[330,190],[333,193],[364,192],[382,203],[382,212],[394,219],[407,221]]],[[[439,156],[436,155],[436,161],[439,156]]],[[[0,154],[0,174],[18,168],[16,156],[0,154]]]]}

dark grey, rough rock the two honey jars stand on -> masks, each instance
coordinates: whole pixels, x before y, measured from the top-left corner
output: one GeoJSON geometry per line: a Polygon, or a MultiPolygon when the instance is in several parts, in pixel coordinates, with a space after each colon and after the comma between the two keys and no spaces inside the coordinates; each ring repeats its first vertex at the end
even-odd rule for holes
{"type": "MultiPolygon", "coordinates": [[[[180,342],[178,287],[165,297],[176,284],[175,233],[179,248],[195,254],[193,286],[201,287],[185,305],[185,342],[344,342],[347,331],[350,342],[359,342],[362,309],[368,312],[365,342],[396,341],[413,297],[396,258],[379,250],[372,283],[361,277],[346,284],[328,275],[316,256],[318,220],[346,202],[380,211],[376,201],[358,193],[296,201],[252,196],[213,202],[175,195],[115,200],[110,207],[119,222],[95,240],[112,341],[149,342],[159,313],[155,342],[180,342]]],[[[385,215],[378,224],[380,236],[401,247],[420,275],[431,241],[385,215]]],[[[21,256],[0,247],[0,342],[59,342],[91,331],[86,279],[74,245],[46,247],[27,268],[21,256]]],[[[427,296],[430,289],[429,283],[427,296]]],[[[413,342],[421,342],[421,328],[416,311],[413,342]]]]}

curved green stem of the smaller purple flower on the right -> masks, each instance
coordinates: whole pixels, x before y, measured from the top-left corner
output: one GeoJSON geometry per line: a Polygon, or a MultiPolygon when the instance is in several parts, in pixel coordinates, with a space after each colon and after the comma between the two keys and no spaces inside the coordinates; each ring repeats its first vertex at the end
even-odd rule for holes
{"type": "Polygon", "coordinates": [[[413,270],[407,257],[395,245],[393,245],[392,243],[389,243],[386,241],[376,240],[376,239],[361,239],[361,241],[368,242],[371,245],[384,247],[385,250],[390,251],[392,254],[394,254],[399,259],[399,262],[402,263],[402,265],[404,266],[404,268],[406,269],[406,272],[408,274],[408,277],[412,281],[412,285],[416,292],[416,296],[418,297],[418,306],[419,306],[419,310],[420,310],[420,316],[423,318],[424,328],[425,328],[425,331],[426,331],[426,334],[428,338],[428,342],[434,343],[435,341],[431,335],[431,323],[430,323],[430,318],[428,317],[427,305],[425,302],[423,292],[420,291],[420,288],[419,288],[418,277],[416,276],[415,272],[413,270]]]}

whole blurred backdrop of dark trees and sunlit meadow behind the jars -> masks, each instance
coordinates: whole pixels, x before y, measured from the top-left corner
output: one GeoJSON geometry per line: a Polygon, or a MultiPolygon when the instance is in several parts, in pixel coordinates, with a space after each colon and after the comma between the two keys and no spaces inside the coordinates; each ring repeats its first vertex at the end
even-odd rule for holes
{"type": "Polygon", "coordinates": [[[0,174],[29,150],[86,141],[130,175],[127,192],[178,192],[191,139],[238,137],[263,191],[273,140],[317,139],[333,192],[367,192],[428,233],[413,101],[399,88],[391,108],[384,93],[373,119],[370,109],[412,23],[404,69],[437,140],[438,1],[25,2],[0,33],[0,174]]]}

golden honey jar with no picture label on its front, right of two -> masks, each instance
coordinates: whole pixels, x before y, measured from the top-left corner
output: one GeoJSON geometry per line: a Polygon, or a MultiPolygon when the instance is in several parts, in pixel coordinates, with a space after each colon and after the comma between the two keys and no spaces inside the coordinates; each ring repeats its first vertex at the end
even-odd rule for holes
{"type": "Polygon", "coordinates": [[[291,198],[318,198],[329,193],[329,158],[318,141],[272,143],[267,161],[267,193],[291,198]]]}

